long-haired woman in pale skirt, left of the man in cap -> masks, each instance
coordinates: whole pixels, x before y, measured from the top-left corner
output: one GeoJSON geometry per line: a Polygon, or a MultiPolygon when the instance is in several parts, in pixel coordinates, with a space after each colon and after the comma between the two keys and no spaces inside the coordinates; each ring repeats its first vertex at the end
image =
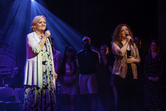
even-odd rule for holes
{"type": "Polygon", "coordinates": [[[65,111],[76,111],[76,97],[79,94],[78,75],[79,68],[75,59],[74,49],[66,47],[60,73],[61,94],[65,111]]]}

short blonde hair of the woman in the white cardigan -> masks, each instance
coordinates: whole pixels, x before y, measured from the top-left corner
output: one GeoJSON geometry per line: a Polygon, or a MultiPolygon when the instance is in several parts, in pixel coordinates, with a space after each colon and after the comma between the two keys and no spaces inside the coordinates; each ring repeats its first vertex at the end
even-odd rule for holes
{"type": "Polygon", "coordinates": [[[31,23],[31,30],[34,32],[34,31],[36,31],[36,23],[40,20],[40,19],[42,19],[42,18],[44,18],[45,20],[46,20],[46,17],[45,16],[43,16],[43,15],[37,15],[37,16],[35,16],[34,17],[34,19],[32,20],[32,23],[31,23]]]}

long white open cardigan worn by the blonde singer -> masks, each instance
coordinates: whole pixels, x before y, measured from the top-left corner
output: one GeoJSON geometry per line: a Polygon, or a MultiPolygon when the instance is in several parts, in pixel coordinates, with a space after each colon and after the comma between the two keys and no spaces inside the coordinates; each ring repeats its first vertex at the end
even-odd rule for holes
{"type": "MultiPolygon", "coordinates": [[[[35,32],[29,33],[26,38],[26,64],[25,64],[25,76],[24,76],[24,85],[36,85],[37,87],[42,88],[43,85],[43,76],[42,76],[42,48],[38,44],[40,42],[40,37],[37,36],[35,32]]],[[[49,40],[47,42],[50,45],[49,40]]],[[[51,48],[51,46],[50,46],[51,48]]],[[[52,54],[52,50],[51,50],[52,54]]],[[[53,57],[52,57],[53,59],[53,57]]],[[[53,62],[53,61],[52,61],[53,62]]],[[[53,64],[53,72],[54,63],[53,64]]],[[[55,79],[54,85],[55,85],[55,79]]]]}

